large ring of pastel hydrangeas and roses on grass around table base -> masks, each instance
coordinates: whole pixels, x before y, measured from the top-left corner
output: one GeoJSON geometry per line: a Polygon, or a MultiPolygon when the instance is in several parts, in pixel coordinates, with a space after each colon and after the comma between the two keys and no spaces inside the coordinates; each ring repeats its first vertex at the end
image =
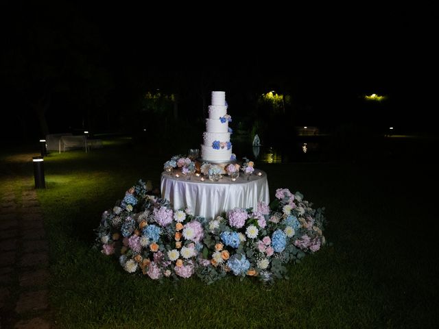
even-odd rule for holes
{"type": "Polygon", "coordinates": [[[270,206],[235,208],[215,219],[173,210],[148,194],[139,180],[102,214],[96,247],[114,255],[128,273],[153,280],[196,275],[211,283],[226,275],[273,282],[285,278],[285,265],[299,262],[326,243],[324,208],[312,208],[300,193],[276,190],[270,206]]]}

